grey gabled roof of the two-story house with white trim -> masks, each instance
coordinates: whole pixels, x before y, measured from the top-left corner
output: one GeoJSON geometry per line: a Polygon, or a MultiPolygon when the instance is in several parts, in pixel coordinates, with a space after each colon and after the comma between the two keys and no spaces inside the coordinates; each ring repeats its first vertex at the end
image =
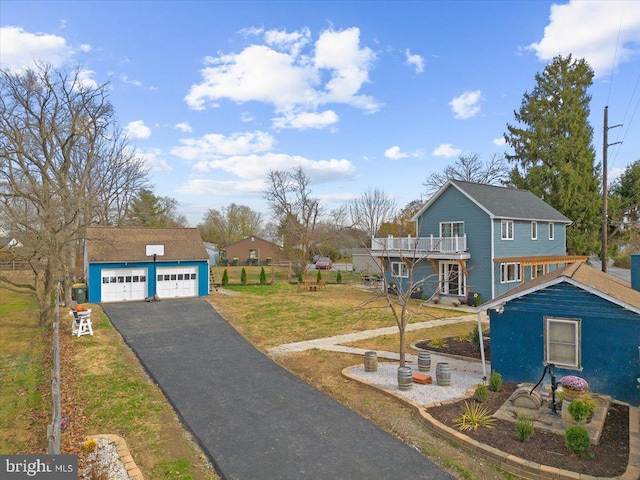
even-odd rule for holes
{"type": "Polygon", "coordinates": [[[571,220],[529,190],[461,180],[447,181],[412,220],[417,220],[448,188],[458,189],[492,218],[571,223],[571,220]]]}

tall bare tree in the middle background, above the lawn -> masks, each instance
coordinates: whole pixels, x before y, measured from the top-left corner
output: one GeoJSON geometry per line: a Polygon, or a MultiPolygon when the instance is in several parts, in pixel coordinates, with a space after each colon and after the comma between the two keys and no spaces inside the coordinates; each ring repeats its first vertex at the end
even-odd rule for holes
{"type": "Polygon", "coordinates": [[[310,184],[311,179],[302,167],[293,171],[271,170],[264,192],[264,199],[279,225],[285,254],[300,262],[309,260],[320,216],[320,201],[311,195],[310,184]]]}

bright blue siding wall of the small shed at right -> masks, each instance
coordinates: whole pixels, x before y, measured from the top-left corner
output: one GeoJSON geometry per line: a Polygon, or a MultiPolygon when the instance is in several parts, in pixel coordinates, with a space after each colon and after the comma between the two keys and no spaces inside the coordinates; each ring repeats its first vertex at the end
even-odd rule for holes
{"type": "MultiPolygon", "coordinates": [[[[595,393],[640,406],[640,315],[562,283],[512,300],[489,312],[491,368],[508,382],[537,382],[544,369],[544,317],[580,318],[582,371],[595,393]]],[[[545,379],[548,382],[548,378],[545,379]]]]}

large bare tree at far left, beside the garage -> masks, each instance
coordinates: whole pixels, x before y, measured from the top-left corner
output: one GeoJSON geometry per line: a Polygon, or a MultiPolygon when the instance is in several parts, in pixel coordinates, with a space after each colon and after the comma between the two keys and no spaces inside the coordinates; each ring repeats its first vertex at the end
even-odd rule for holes
{"type": "MultiPolygon", "coordinates": [[[[35,278],[11,285],[35,292],[41,325],[52,319],[60,277],[70,300],[70,270],[84,229],[112,198],[101,175],[112,161],[136,165],[127,163],[133,149],[115,126],[107,92],[107,84],[83,83],[79,69],[0,71],[0,209],[25,239],[23,255],[35,278]]],[[[129,178],[146,181],[144,171],[129,178]]],[[[126,198],[125,185],[118,195],[126,198]]]]}

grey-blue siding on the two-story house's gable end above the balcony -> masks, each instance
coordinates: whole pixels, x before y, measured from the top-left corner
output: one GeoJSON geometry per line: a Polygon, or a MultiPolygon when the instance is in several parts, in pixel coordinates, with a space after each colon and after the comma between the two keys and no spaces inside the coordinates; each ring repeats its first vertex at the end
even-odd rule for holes
{"type": "MultiPolygon", "coordinates": [[[[449,187],[429,206],[418,220],[418,236],[440,236],[440,222],[464,222],[467,247],[467,289],[479,292],[488,300],[491,296],[491,221],[489,215],[463,195],[449,187]]],[[[429,274],[433,269],[428,264],[429,274]]]]}

